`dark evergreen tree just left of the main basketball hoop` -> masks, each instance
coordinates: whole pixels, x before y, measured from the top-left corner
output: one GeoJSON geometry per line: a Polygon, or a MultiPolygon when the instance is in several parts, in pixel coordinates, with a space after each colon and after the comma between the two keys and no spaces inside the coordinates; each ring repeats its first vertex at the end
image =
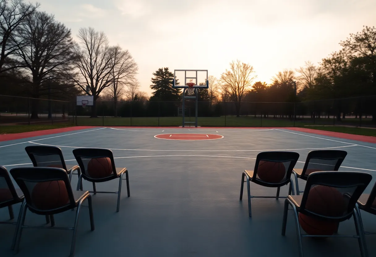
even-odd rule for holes
{"type": "MultiPolygon", "coordinates": [[[[151,89],[154,89],[150,101],[180,101],[180,89],[172,87],[174,74],[168,68],[159,68],[153,73],[151,89]]],[[[179,85],[179,82],[176,81],[179,85]]]]}

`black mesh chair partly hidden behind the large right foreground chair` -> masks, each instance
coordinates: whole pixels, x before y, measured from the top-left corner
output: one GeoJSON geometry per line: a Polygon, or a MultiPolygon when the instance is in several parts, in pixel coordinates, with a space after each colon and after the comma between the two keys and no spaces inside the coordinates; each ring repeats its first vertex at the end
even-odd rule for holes
{"type": "Polygon", "coordinates": [[[303,169],[294,168],[296,194],[300,195],[298,178],[307,180],[308,175],[315,171],[338,171],[347,155],[343,150],[314,150],[310,151],[303,169]]]}

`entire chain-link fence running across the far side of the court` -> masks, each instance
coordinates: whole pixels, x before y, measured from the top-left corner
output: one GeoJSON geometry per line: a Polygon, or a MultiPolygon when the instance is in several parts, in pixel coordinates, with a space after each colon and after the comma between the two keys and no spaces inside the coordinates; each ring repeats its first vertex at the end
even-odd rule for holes
{"type": "MultiPolygon", "coordinates": [[[[1,125],[181,126],[183,112],[186,121],[195,120],[193,100],[186,100],[185,110],[181,101],[96,102],[84,108],[65,101],[0,95],[1,125]]],[[[376,96],[300,103],[199,102],[197,113],[203,127],[376,127],[376,96]]]]}

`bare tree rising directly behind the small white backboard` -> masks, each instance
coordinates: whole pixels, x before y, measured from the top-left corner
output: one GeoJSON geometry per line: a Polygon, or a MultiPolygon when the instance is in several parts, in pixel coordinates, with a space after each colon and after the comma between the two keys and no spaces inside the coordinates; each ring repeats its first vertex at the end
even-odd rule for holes
{"type": "Polygon", "coordinates": [[[93,96],[91,117],[97,117],[96,100],[103,89],[114,82],[111,64],[114,51],[111,51],[104,32],[91,27],[81,28],[77,36],[80,44],[74,49],[79,58],[74,67],[78,72],[72,79],[86,94],[93,96]]]}

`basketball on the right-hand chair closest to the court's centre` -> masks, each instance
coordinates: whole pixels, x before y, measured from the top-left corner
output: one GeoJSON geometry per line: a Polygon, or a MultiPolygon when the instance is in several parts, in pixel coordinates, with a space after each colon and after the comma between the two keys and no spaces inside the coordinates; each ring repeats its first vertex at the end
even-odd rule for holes
{"type": "Polygon", "coordinates": [[[268,183],[279,183],[286,174],[285,165],[282,162],[268,162],[261,160],[257,169],[258,177],[268,183]]]}

